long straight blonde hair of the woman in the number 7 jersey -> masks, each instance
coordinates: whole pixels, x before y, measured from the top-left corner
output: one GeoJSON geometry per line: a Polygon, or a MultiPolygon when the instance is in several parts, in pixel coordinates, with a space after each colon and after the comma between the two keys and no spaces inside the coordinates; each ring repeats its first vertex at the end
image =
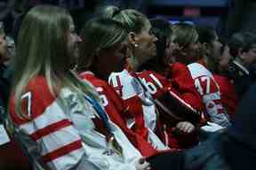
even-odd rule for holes
{"type": "Polygon", "coordinates": [[[52,95],[58,88],[68,87],[94,95],[91,86],[76,78],[69,71],[71,60],[68,52],[68,30],[72,22],[70,14],[57,6],[39,5],[32,8],[21,23],[14,58],[12,92],[15,112],[28,119],[21,111],[21,97],[28,81],[38,75],[45,77],[52,95]]]}

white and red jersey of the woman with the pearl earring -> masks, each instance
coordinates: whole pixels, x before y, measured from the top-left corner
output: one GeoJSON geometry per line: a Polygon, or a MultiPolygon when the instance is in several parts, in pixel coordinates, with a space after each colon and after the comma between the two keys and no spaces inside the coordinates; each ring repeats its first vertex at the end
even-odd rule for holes
{"type": "Polygon", "coordinates": [[[132,112],[133,118],[126,120],[126,126],[143,136],[158,150],[165,150],[164,143],[154,133],[157,120],[156,106],[140,82],[124,70],[121,73],[111,73],[108,83],[116,89],[132,112]]]}

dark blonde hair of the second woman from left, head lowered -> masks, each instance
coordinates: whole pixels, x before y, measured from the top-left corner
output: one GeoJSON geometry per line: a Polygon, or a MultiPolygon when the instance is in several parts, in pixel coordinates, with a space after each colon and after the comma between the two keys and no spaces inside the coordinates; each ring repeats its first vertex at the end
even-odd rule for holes
{"type": "Polygon", "coordinates": [[[91,19],[83,27],[80,43],[78,70],[89,70],[100,50],[114,47],[127,38],[125,27],[113,19],[91,19]]]}

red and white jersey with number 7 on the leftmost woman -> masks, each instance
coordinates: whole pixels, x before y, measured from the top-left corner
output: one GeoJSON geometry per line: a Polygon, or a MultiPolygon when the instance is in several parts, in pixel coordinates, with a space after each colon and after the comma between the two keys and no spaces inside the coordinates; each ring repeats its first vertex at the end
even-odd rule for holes
{"type": "Polygon", "coordinates": [[[54,97],[45,78],[37,76],[28,82],[22,96],[22,110],[28,112],[31,119],[20,119],[14,108],[12,96],[12,121],[37,164],[43,160],[50,169],[86,169],[83,162],[86,159],[102,170],[136,169],[134,161],[141,157],[140,152],[110,120],[112,133],[122,147],[123,155],[106,154],[109,147],[104,131],[99,128],[100,117],[84,99],[83,93],[65,88],[54,97]]]}

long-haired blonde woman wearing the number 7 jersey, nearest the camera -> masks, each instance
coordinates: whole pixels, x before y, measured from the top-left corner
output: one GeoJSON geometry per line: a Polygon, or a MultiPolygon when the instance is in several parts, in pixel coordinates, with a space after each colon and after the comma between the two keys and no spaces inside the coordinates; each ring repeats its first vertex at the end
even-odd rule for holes
{"type": "Polygon", "coordinates": [[[96,90],[70,71],[78,42],[60,7],[36,6],[22,21],[9,111],[34,169],[148,169],[96,90]]]}

